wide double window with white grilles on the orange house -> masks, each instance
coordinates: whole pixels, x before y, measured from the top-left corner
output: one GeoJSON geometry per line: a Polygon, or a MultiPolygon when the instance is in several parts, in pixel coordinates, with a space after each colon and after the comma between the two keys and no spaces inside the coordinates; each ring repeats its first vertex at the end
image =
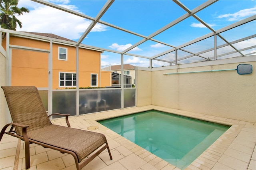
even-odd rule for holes
{"type": "Polygon", "coordinates": [[[75,87],[76,73],[60,73],[59,87],[75,87]]]}

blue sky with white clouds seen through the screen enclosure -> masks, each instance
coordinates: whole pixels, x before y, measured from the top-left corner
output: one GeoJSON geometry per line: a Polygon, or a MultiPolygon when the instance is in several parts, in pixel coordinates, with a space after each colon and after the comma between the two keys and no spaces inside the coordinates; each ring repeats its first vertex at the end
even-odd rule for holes
{"type": "MultiPolygon", "coordinates": [[[[106,0],[47,1],[93,18],[97,16],[98,12],[100,12],[102,7],[106,4],[106,0]]],[[[206,2],[206,0],[180,0],[180,2],[189,10],[193,10],[206,2]]],[[[44,6],[30,0],[20,0],[18,7],[26,7],[30,12],[17,16],[18,20],[22,22],[22,28],[17,28],[17,31],[51,33],[70,40],[78,41],[91,23],[90,20],[85,18],[44,6]]],[[[186,14],[186,11],[171,0],[115,0],[100,20],[130,30],[142,36],[150,36],[152,33],[184,14],[186,14]]],[[[219,0],[196,13],[196,16],[206,22],[213,30],[219,30],[253,15],[256,15],[256,0],[219,0]]],[[[202,25],[194,17],[190,16],[161,34],[154,36],[154,40],[167,43],[171,46],[148,40],[128,53],[145,57],[154,57],[159,53],[172,49],[172,47],[177,47],[208,33],[211,33],[208,28],[202,25]]],[[[238,28],[223,32],[221,33],[221,36],[228,41],[235,41],[254,34],[256,34],[255,20],[238,28]]],[[[142,37],[128,34],[103,24],[96,24],[82,43],[115,51],[123,51],[131,45],[140,42],[142,39],[142,37]]],[[[224,43],[223,40],[217,38],[217,45],[222,45],[224,43]]],[[[184,49],[196,53],[210,49],[213,45],[213,38],[208,38],[202,42],[184,47],[184,49]]],[[[240,49],[244,48],[245,45],[256,45],[256,38],[235,45],[240,49]]],[[[217,55],[218,53],[222,54],[232,50],[234,49],[223,47],[218,49],[217,55]]],[[[250,49],[250,51],[245,51],[245,53],[251,53],[253,51],[256,51],[256,48],[250,49]]],[[[178,59],[189,55],[190,53],[181,50],[178,51],[178,59]]],[[[204,57],[212,55],[212,51],[202,54],[204,57]]],[[[230,57],[235,56],[230,55],[230,57]]],[[[168,53],[159,57],[159,59],[173,61],[175,59],[175,53],[168,53]]],[[[181,60],[180,63],[193,62],[200,59],[202,58],[195,56],[181,60]]],[[[121,64],[120,54],[107,51],[102,53],[102,66],[119,64],[121,64]]],[[[124,64],[149,67],[149,59],[124,55],[124,64]]],[[[153,67],[161,67],[162,65],[169,65],[169,63],[156,60],[153,61],[153,67]]]]}

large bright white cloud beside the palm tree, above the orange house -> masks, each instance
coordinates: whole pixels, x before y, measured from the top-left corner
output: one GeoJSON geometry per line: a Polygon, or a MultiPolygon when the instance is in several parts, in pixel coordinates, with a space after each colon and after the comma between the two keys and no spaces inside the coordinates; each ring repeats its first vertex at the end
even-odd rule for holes
{"type": "MultiPolygon", "coordinates": [[[[26,6],[32,9],[30,9],[30,12],[27,14],[17,16],[18,20],[22,22],[22,28],[18,27],[17,31],[52,33],[64,38],[76,40],[82,36],[91,23],[90,20],[55,8],[38,5],[38,3],[34,3],[36,6],[31,6],[28,0],[21,0],[20,2],[20,6],[26,6]]],[[[31,1],[29,2],[31,3],[31,1]]],[[[57,2],[62,2],[60,6],[80,12],[76,6],[67,5],[68,0],[58,0],[57,2]]],[[[96,24],[92,32],[102,32],[106,30],[107,26],[96,24]]]]}

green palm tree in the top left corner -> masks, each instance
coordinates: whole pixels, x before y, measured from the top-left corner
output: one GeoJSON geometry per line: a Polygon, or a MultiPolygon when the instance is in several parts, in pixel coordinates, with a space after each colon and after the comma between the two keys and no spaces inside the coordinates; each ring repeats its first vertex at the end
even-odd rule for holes
{"type": "MultiPolygon", "coordinates": [[[[18,8],[19,0],[0,0],[0,24],[2,28],[16,30],[17,23],[22,28],[22,22],[16,18],[23,13],[28,13],[26,7],[18,8]]],[[[5,37],[3,34],[2,39],[5,37]]]]}

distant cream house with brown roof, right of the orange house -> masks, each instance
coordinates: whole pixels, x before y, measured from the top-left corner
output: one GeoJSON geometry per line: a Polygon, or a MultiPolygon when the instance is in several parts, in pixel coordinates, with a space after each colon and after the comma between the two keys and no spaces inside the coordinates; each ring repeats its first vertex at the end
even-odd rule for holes
{"type": "MultiPolygon", "coordinates": [[[[112,65],[111,71],[121,74],[121,65],[112,65]]],[[[128,75],[131,77],[132,82],[127,82],[126,84],[134,84],[135,85],[135,66],[130,64],[124,64],[124,75],[128,75]]],[[[112,76],[113,78],[113,76],[112,76]]]]}

